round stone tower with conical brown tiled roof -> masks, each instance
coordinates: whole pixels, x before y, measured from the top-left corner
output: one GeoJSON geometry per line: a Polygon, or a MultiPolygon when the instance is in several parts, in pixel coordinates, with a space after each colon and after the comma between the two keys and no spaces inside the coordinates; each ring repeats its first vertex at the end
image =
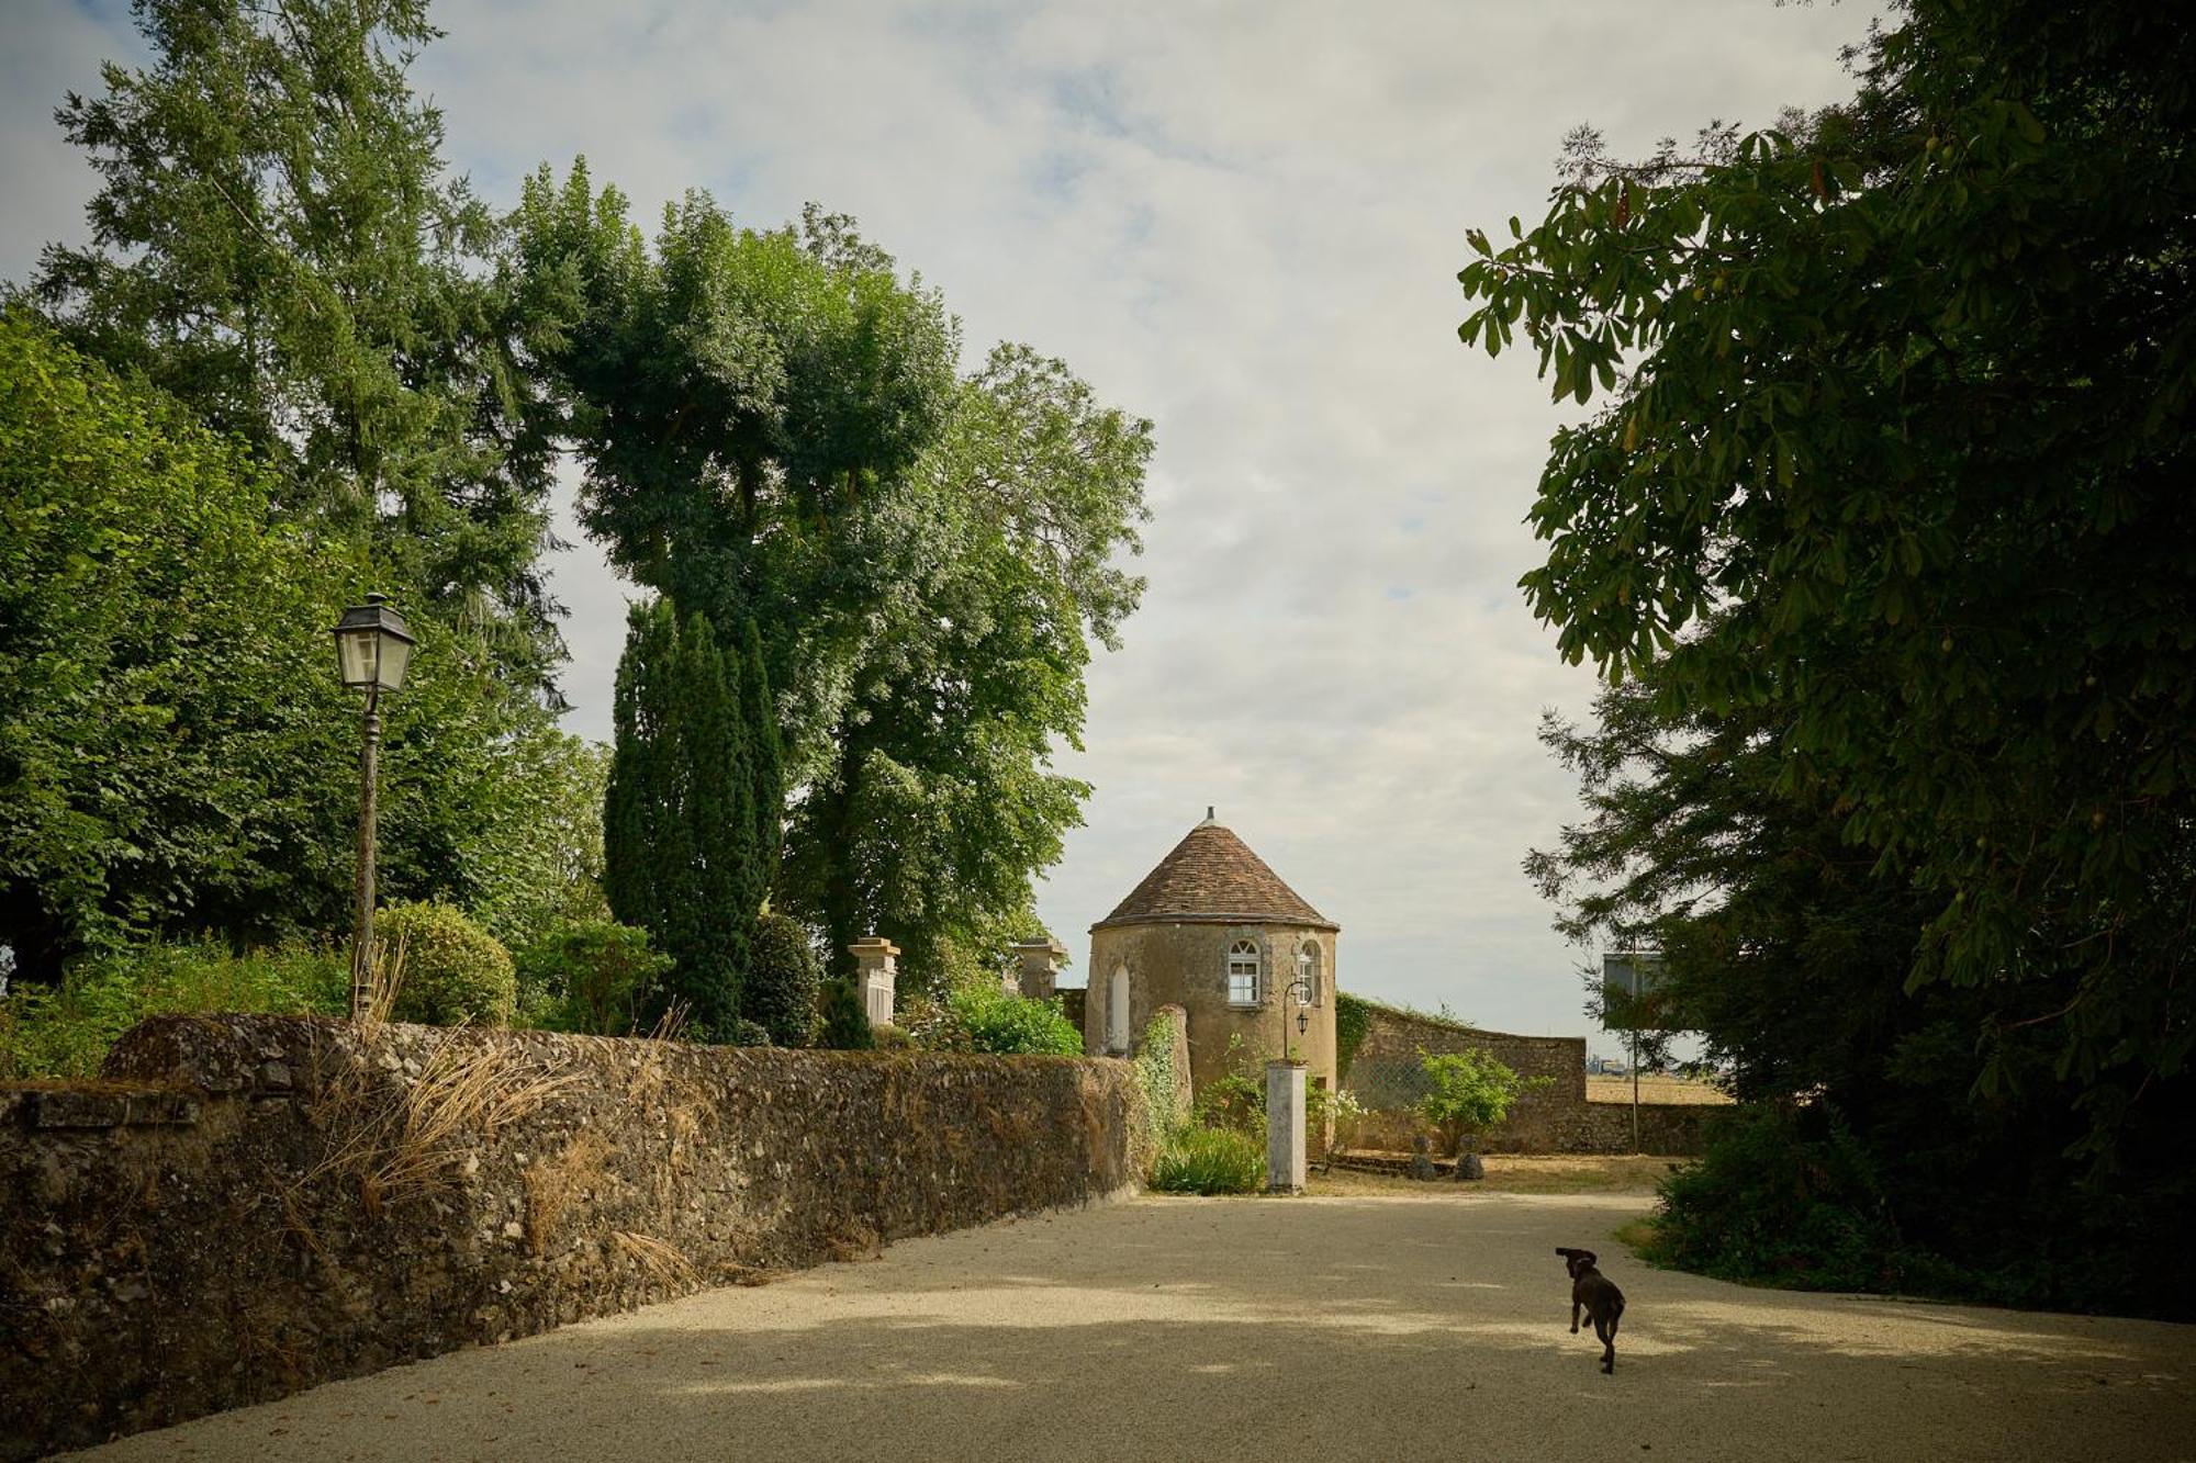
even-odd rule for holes
{"type": "Polygon", "coordinates": [[[1254,1068],[1280,1057],[1287,1021],[1289,1054],[1309,1063],[1313,1083],[1333,1087],[1340,931],[1208,808],[1206,822],[1091,925],[1083,1050],[1127,1054],[1153,1010],[1181,1006],[1190,1081],[1203,1087],[1228,1070],[1230,1037],[1243,1037],[1254,1068]],[[1300,1006],[1291,986],[1309,1002],[1300,1006]]]}

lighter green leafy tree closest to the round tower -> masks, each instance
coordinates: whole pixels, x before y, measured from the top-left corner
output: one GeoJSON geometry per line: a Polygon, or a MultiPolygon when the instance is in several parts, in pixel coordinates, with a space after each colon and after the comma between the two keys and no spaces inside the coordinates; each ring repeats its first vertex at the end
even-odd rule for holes
{"type": "Polygon", "coordinates": [[[782,881],[834,973],[889,929],[911,978],[944,986],[1028,931],[1030,872],[1089,795],[1052,749],[1080,745],[1089,641],[1118,644],[1142,593],[1116,558],[1135,547],[1149,453],[1144,422],[1006,345],[878,516],[907,595],[856,668],[837,762],[793,811],[782,881]]]}

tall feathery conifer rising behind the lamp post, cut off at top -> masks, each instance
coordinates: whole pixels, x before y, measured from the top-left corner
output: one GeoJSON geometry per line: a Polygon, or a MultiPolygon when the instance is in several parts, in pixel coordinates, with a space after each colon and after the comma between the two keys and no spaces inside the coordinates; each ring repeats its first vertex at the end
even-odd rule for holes
{"type": "Polygon", "coordinates": [[[411,92],[426,9],[138,0],[152,62],[57,112],[101,178],[90,244],[51,246],[31,294],[248,442],[285,521],[547,692],[542,424],[496,220],[411,92]]]}

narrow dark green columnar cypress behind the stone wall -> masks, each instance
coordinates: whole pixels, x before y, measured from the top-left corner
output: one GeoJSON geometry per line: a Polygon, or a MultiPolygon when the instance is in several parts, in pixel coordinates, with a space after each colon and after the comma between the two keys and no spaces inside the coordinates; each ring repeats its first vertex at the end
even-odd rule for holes
{"type": "Polygon", "coordinates": [[[668,600],[632,608],[617,666],[604,797],[604,896],[648,929],[676,967],[665,993],[705,1037],[729,1037],[755,916],[769,896],[775,837],[758,804],[777,806],[769,747],[751,716],[740,646],[718,646],[705,615],[679,622],[668,600]]]}

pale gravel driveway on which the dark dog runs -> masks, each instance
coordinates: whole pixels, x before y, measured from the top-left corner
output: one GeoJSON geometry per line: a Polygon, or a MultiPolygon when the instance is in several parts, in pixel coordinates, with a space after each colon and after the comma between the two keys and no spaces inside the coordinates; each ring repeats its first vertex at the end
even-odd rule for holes
{"type": "Polygon", "coordinates": [[[1744,1289],[1632,1195],[1135,1199],[206,1417],[101,1459],[2196,1459],[2196,1327],[1744,1289]],[[1559,1243],[1629,1311],[1570,1336],[1559,1243]]]}

